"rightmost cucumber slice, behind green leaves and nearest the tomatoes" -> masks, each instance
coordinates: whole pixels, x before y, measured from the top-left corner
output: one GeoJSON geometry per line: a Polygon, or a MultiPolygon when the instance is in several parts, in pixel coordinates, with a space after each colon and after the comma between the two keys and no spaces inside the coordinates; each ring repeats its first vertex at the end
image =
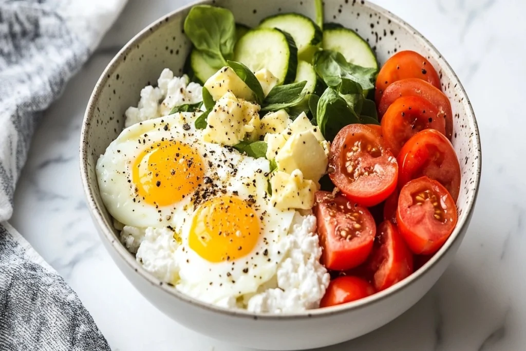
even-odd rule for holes
{"type": "Polygon", "coordinates": [[[326,24],[324,27],[323,49],[337,51],[355,65],[378,69],[375,53],[358,34],[340,25],[326,24]]]}

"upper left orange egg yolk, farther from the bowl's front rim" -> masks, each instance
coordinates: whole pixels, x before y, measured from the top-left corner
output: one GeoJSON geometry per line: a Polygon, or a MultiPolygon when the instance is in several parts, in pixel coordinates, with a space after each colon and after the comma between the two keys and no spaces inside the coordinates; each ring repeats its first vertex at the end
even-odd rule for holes
{"type": "Polygon", "coordinates": [[[197,151],[177,141],[159,142],[135,159],[132,180],[137,196],[150,205],[175,204],[203,181],[203,160],[197,151]]]}

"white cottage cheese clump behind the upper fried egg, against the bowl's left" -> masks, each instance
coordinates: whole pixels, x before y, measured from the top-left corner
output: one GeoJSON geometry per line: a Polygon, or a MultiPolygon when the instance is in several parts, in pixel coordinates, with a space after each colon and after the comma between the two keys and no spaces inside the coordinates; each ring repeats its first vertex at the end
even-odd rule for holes
{"type": "Polygon", "coordinates": [[[203,87],[189,82],[187,75],[174,77],[174,72],[165,68],[157,79],[157,87],[148,85],[140,91],[137,107],[129,107],[126,112],[124,126],[147,119],[166,116],[175,106],[196,104],[203,101],[203,87]]]}

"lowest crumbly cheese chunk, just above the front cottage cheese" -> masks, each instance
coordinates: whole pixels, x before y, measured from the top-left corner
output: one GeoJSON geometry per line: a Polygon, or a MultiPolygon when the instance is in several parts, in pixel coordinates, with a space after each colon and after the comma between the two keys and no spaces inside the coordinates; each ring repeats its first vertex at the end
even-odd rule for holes
{"type": "Polygon", "coordinates": [[[318,184],[305,179],[299,169],[292,174],[275,172],[270,178],[270,186],[270,201],[279,209],[310,209],[314,205],[314,193],[318,190],[318,184]]]}

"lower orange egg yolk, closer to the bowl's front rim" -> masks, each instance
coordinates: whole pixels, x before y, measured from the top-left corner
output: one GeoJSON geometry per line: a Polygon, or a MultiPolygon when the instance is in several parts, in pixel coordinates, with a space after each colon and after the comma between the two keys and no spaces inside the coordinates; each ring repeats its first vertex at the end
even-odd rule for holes
{"type": "Polygon", "coordinates": [[[259,218],[245,200],[220,196],[197,209],[188,245],[209,262],[235,260],[254,249],[259,233],[259,218]]]}

